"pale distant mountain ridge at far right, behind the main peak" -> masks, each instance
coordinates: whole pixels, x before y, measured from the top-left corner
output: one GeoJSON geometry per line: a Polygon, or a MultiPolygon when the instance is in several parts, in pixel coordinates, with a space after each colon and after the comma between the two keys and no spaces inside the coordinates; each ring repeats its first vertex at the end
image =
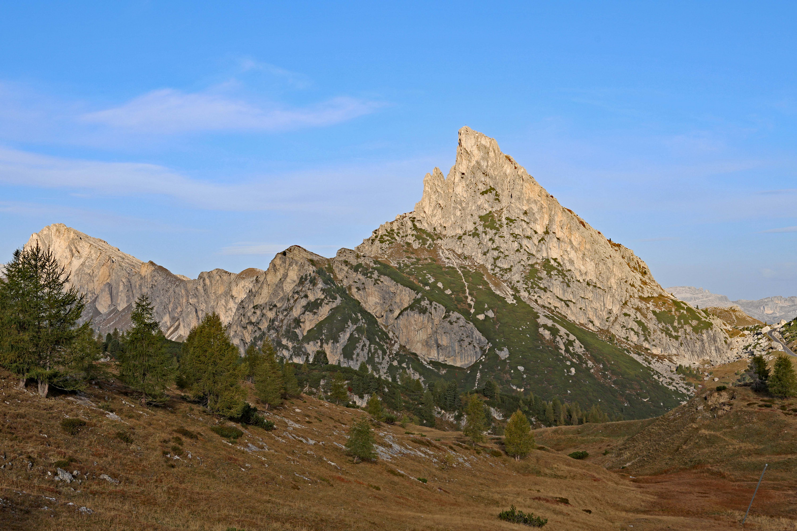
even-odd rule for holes
{"type": "Polygon", "coordinates": [[[685,303],[700,306],[701,308],[709,306],[720,308],[739,306],[745,314],[768,324],[775,324],[780,322],[781,319],[791,321],[791,319],[797,317],[797,297],[775,296],[754,301],[745,299],[732,301],[725,295],[717,295],[702,287],[674,286],[668,287],[666,291],[669,291],[685,303]]]}

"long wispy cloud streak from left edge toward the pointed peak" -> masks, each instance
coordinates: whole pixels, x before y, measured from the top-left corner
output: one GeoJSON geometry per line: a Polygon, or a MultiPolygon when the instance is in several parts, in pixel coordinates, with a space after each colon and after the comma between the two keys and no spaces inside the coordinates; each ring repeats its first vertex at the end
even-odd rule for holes
{"type": "Polygon", "coordinates": [[[416,165],[410,160],[210,182],[156,164],[61,158],[0,146],[0,185],[62,189],[80,197],[163,196],[199,209],[292,211],[351,221],[378,210],[376,198],[393,201],[407,193],[395,174],[416,165]]]}

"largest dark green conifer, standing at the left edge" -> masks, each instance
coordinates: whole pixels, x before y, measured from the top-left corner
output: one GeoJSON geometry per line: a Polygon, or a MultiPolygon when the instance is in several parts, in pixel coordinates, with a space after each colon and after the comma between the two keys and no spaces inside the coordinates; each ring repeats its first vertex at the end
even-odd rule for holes
{"type": "Polygon", "coordinates": [[[85,305],[68,283],[65,267],[38,244],[14,251],[0,279],[0,365],[19,378],[21,388],[35,378],[40,396],[72,369],[66,354],[85,305]]]}

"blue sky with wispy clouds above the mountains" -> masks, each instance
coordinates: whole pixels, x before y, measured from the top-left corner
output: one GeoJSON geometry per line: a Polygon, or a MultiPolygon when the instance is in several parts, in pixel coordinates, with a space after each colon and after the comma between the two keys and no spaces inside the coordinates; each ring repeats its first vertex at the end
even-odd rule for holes
{"type": "Polygon", "coordinates": [[[413,209],[473,127],[663,286],[797,295],[791,2],[2,2],[0,260],[195,276],[413,209]]]}

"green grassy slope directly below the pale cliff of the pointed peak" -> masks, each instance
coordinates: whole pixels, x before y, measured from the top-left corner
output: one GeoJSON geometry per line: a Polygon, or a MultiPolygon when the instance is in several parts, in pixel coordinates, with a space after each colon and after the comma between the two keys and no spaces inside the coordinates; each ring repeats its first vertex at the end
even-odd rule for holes
{"type": "Polygon", "coordinates": [[[582,407],[599,404],[611,415],[626,418],[661,415],[688,398],[662,385],[650,367],[622,345],[607,341],[610,338],[561,317],[540,324],[532,306],[521,300],[508,303],[497,295],[491,283],[500,281],[481,267],[452,267],[434,252],[405,250],[404,256],[392,260],[395,267],[385,260],[375,268],[418,291],[416,303],[429,299],[463,315],[492,344],[475,364],[453,371],[463,388],[477,388],[493,378],[503,392],[531,391],[545,400],[559,396],[582,407]],[[540,333],[543,329],[548,337],[540,333]]]}

